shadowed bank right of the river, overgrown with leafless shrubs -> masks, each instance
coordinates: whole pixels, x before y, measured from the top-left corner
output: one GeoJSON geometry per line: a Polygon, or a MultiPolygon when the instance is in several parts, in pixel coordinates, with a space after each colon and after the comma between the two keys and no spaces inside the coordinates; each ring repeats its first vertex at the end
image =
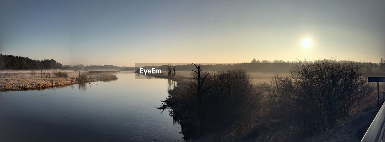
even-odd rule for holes
{"type": "Polygon", "coordinates": [[[261,84],[252,83],[253,77],[241,70],[211,73],[203,88],[215,85],[203,99],[194,94],[198,83],[191,77],[197,76],[190,75],[169,90],[165,102],[188,141],[362,138],[375,115],[377,92],[360,66],[318,61],[291,71],[261,84]]]}

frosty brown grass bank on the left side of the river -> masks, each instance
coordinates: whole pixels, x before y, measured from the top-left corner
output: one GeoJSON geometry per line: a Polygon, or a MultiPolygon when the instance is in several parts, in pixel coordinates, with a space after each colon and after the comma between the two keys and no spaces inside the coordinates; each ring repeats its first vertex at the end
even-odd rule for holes
{"type": "Polygon", "coordinates": [[[72,70],[2,70],[0,91],[45,89],[96,81],[117,80],[113,75],[119,71],[72,71],[72,70]],[[61,72],[65,77],[56,77],[61,72]]]}

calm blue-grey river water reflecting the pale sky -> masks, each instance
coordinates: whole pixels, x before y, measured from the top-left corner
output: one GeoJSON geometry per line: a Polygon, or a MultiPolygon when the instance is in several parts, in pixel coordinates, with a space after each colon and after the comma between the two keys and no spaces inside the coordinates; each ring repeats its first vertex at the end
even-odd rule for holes
{"type": "Polygon", "coordinates": [[[0,141],[177,141],[166,79],[118,80],[0,93],[0,141]],[[161,113],[162,112],[162,113],[161,113]]]}

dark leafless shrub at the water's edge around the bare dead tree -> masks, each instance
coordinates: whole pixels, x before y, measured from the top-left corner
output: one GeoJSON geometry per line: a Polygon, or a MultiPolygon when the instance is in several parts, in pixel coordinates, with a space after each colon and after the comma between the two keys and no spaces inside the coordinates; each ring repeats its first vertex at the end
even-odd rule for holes
{"type": "MultiPolygon", "coordinates": [[[[209,75],[203,88],[216,85],[204,92],[201,113],[198,112],[198,96],[193,94],[196,88],[191,82],[178,82],[177,87],[169,91],[170,96],[166,100],[166,104],[172,108],[172,116],[181,124],[185,139],[223,132],[237,122],[243,124],[258,107],[260,93],[254,89],[245,70],[220,71],[209,75]],[[199,114],[203,114],[204,124],[199,124],[199,114]],[[199,129],[199,125],[203,128],[199,129]]],[[[239,125],[239,128],[245,125],[239,125]]]]}

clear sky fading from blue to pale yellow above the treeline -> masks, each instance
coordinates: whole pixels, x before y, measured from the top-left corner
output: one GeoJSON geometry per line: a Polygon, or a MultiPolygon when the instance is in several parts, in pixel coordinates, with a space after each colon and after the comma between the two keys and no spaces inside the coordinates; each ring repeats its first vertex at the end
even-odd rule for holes
{"type": "Polygon", "coordinates": [[[72,65],[379,62],[384,7],[384,0],[0,0],[0,52],[72,65]]]}

